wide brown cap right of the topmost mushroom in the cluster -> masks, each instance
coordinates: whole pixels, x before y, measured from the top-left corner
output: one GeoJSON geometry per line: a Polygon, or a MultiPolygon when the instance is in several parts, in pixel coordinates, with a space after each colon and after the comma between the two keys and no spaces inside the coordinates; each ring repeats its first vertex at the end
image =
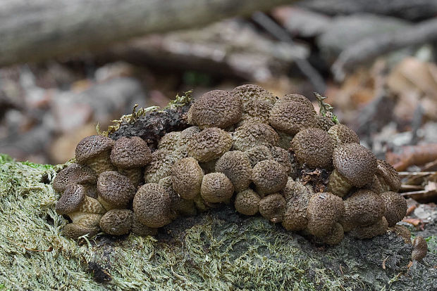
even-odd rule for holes
{"type": "Polygon", "coordinates": [[[279,131],[297,134],[302,129],[314,127],[314,109],[300,101],[278,101],[270,111],[269,124],[279,131]]]}

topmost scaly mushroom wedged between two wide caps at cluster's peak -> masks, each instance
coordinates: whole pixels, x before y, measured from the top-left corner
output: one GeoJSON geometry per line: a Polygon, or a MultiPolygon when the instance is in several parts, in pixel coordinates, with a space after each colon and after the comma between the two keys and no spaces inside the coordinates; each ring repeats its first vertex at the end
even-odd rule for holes
{"type": "Polygon", "coordinates": [[[257,85],[242,85],[235,87],[230,94],[238,96],[242,101],[242,118],[240,125],[246,122],[267,123],[276,97],[266,89],[257,85]]]}

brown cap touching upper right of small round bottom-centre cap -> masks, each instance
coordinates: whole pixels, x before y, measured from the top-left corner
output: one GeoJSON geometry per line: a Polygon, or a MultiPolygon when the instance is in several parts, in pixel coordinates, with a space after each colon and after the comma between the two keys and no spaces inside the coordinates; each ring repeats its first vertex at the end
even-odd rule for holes
{"type": "Polygon", "coordinates": [[[233,150],[219,158],[216,162],[216,172],[225,174],[232,182],[235,191],[240,192],[250,185],[252,166],[246,153],[233,150]]]}

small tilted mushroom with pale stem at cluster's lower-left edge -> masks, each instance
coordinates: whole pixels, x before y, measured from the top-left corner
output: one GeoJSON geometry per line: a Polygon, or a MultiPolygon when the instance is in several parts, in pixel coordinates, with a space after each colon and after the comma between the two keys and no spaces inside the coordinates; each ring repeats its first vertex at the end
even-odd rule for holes
{"type": "Polygon", "coordinates": [[[71,219],[73,219],[72,214],[75,212],[104,214],[106,210],[101,203],[97,199],[88,197],[86,193],[85,186],[70,184],[56,202],[56,213],[70,214],[71,219]]]}

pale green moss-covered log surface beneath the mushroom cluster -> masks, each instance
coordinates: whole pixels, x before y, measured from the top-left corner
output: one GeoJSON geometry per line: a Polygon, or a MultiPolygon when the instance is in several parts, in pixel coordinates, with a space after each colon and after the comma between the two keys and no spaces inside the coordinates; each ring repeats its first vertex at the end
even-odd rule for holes
{"type": "MultiPolygon", "coordinates": [[[[0,290],[432,290],[436,245],[386,234],[335,247],[224,207],[178,219],[155,238],[62,236],[53,188],[63,166],[0,155],[0,290]]],[[[435,240],[435,238],[432,238],[435,240]]]]}

